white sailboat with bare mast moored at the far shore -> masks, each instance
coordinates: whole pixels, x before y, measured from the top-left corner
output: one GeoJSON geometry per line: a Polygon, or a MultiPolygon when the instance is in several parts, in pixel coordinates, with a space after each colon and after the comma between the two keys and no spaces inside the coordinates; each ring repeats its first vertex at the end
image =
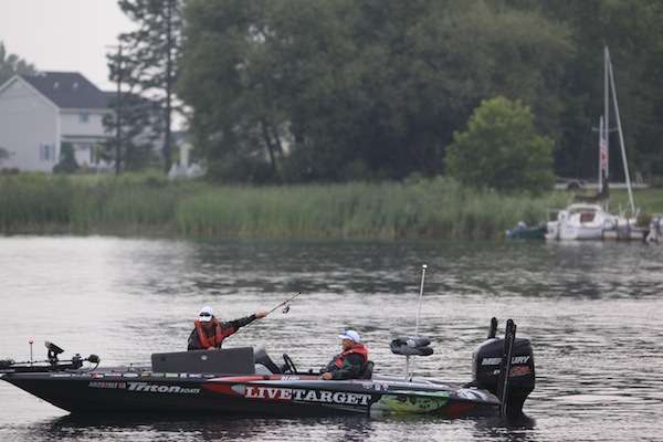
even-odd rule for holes
{"type": "Polygon", "coordinates": [[[603,240],[615,239],[642,239],[643,232],[636,225],[638,211],[631,189],[631,177],[627,162],[627,150],[614,88],[614,75],[608,46],[603,50],[603,115],[599,118],[599,193],[596,197],[585,198],[585,202],[572,203],[565,210],[560,210],[557,219],[548,221],[546,228],[547,240],[603,240]],[[624,166],[624,178],[629,191],[629,203],[631,211],[629,215],[622,213],[613,215],[608,211],[609,199],[609,133],[610,133],[610,98],[614,106],[617,119],[617,131],[621,147],[622,162],[624,166]],[[588,201],[590,200],[590,201],[588,201]]]}

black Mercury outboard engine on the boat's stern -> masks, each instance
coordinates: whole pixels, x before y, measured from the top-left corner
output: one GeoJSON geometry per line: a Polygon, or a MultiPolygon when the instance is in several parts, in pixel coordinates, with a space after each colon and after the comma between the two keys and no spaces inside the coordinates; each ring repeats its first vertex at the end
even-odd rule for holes
{"type": "Polygon", "coordinates": [[[472,356],[472,385],[502,400],[503,415],[519,415],[523,403],[534,390],[534,354],[529,339],[516,338],[516,325],[508,319],[505,338],[496,338],[497,319],[491,319],[488,338],[472,356]],[[511,354],[511,360],[506,355],[511,354]],[[508,378],[504,373],[508,372],[508,378]]]}

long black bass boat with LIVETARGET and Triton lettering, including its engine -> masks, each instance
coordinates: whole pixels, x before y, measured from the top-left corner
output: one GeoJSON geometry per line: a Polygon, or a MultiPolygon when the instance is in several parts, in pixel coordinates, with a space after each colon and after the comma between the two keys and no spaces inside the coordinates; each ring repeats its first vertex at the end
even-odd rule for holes
{"type": "Polygon", "coordinates": [[[313,370],[299,371],[287,355],[280,367],[251,347],[154,354],[151,367],[99,369],[95,355],[60,360],[63,350],[51,343],[44,361],[0,360],[0,376],[72,413],[518,415],[535,387],[532,346],[516,338],[511,319],[504,338],[495,337],[496,328],[493,318],[465,385],[410,372],[411,358],[433,352],[422,336],[391,341],[391,351],[407,358],[404,376],[373,373],[369,361],[360,379],[322,380],[313,370]]]}

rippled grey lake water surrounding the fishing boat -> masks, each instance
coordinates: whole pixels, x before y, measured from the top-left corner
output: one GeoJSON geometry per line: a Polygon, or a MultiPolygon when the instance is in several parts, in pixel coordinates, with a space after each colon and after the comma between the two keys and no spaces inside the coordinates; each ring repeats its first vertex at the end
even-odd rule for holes
{"type": "MultiPolygon", "coordinates": [[[[102,366],[186,348],[212,305],[227,319],[277,312],[228,340],[318,367],[339,330],[361,332],[376,371],[402,372],[388,344],[414,329],[427,263],[417,372],[471,378],[490,318],[533,340],[528,419],[75,419],[0,382],[0,441],[625,441],[663,440],[663,248],[583,243],[257,243],[116,238],[0,239],[0,358],[50,339],[102,366]]],[[[502,328],[502,327],[501,327],[502,328]]]]}

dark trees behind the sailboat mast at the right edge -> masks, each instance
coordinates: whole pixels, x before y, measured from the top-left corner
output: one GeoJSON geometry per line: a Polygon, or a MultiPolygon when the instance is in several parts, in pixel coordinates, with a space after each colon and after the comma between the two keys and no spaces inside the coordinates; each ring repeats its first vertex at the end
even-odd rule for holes
{"type": "MultiPolygon", "coordinates": [[[[594,177],[597,135],[603,113],[603,45],[610,48],[631,170],[663,175],[663,2],[659,0],[509,0],[566,23],[576,48],[565,66],[556,170],[594,177]]],[[[612,112],[612,109],[611,109],[612,112]]],[[[614,122],[614,116],[612,116],[614,122]]],[[[613,126],[613,125],[611,125],[613,126]]],[[[623,178],[617,135],[611,175],[623,178]]]]}

